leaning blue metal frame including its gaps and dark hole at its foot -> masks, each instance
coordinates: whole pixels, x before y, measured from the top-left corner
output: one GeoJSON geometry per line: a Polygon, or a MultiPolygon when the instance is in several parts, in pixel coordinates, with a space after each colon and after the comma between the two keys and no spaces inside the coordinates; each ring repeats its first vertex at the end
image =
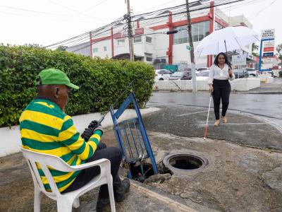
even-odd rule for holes
{"type": "Polygon", "coordinates": [[[128,165],[128,178],[144,182],[147,177],[157,174],[157,163],[134,93],[128,95],[118,110],[111,107],[111,117],[118,146],[123,151],[123,162],[128,165]],[[130,104],[133,104],[137,117],[119,122],[121,114],[130,104]]]}

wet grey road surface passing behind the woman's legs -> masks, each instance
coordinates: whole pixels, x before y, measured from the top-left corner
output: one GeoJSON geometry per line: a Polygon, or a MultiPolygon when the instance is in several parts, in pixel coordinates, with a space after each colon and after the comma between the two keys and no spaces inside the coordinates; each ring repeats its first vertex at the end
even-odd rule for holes
{"type": "MultiPolygon", "coordinates": [[[[208,107],[209,93],[154,92],[148,103],[208,107]]],[[[282,131],[281,106],[282,94],[231,93],[229,110],[256,115],[275,124],[282,131]]]]}

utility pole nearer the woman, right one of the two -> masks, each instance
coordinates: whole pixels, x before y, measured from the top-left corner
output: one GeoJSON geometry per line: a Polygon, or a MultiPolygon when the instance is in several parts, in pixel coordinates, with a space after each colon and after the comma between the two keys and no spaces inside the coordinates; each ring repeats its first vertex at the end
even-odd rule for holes
{"type": "Polygon", "coordinates": [[[191,70],[192,70],[192,91],[197,92],[197,81],[196,81],[196,72],[195,72],[195,56],[194,56],[194,45],[192,41],[192,33],[191,33],[191,18],[190,18],[190,10],[189,10],[189,1],[186,0],[186,12],[187,12],[187,23],[188,23],[188,38],[190,43],[190,59],[191,59],[191,70]]]}

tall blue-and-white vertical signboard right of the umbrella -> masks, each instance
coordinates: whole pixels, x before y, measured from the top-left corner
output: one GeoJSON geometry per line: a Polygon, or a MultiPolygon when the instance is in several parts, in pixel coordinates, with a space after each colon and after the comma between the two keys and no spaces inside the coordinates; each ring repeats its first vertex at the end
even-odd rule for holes
{"type": "Polygon", "coordinates": [[[271,71],[274,57],[275,29],[262,30],[262,40],[259,49],[259,71],[271,71]]]}

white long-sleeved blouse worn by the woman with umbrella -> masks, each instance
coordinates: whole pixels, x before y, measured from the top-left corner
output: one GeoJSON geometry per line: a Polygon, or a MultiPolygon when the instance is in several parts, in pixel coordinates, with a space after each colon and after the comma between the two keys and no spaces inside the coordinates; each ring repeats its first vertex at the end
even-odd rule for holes
{"type": "Polygon", "coordinates": [[[228,69],[229,69],[228,64],[224,64],[223,69],[221,69],[221,68],[219,68],[219,66],[216,66],[215,64],[213,64],[209,68],[209,81],[208,81],[208,83],[212,84],[214,79],[218,79],[218,80],[229,79],[229,80],[233,81],[233,79],[235,78],[235,75],[233,73],[232,77],[229,77],[228,69]]]}

